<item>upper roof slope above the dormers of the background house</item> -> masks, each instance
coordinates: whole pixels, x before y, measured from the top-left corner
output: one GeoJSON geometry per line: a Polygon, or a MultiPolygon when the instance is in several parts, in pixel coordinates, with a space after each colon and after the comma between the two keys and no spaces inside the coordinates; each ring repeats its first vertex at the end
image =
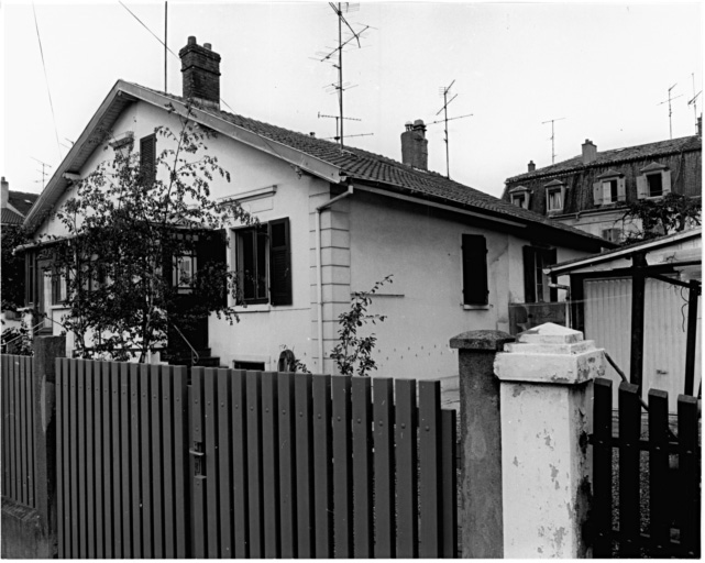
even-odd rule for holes
{"type": "Polygon", "coordinates": [[[648,143],[646,145],[626,146],[624,148],[613,148],[612,151],[597,152],[597,158],[590,164],[583,164],[583,156],[577,155],[568,161],[544,166],[533,172],[519,174],[507,178],[507,184],[520,180],[529,180],[532,178],[540,178],[543,176],[560,175],[568,172],[581,170],[590,167],[597,166],[612,166],[614,164],[630,162],[630,161],[645,161],[658,156],[667,156],[670,154],[678,154],[686,151],[702,151],[703,143],[700,136],[683,136],[680,139],[671,139],[669,141],[659,141],[657,143],[648,143]]]}

